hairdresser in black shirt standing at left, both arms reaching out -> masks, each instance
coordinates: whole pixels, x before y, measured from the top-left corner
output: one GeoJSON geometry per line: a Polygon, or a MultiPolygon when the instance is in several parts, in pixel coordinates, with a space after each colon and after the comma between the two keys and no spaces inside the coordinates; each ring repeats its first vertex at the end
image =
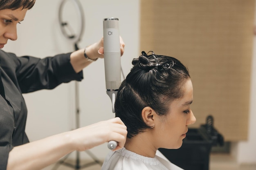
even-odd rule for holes
{"type": "MultiPolygon", "coordinates": [[[[29,143],[25,133],[27,108],[22,93],[52,89],[83,79],[82,69],[103,58],[103,39],[85,49],[44,59],[2,51],[17,39],[16,25],[35,0],[0,0],[0,170],[40,170],[68,153],[115,140],[124,146],[127,130],[119,118],[63,132],[29,143]]],[[[124,43],[120,40],[121,55],[124,43]]]]}

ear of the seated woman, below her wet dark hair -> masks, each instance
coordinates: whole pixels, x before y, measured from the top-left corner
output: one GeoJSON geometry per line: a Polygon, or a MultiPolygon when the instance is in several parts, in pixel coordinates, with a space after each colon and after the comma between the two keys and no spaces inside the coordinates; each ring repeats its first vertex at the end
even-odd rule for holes
{"type": "Polygon", "coordinates": [[[141,111],[141,116],[146,125],[150,127],[155,126],[156,113],[155,110],[149,106],[146,106],[141,111]]]}

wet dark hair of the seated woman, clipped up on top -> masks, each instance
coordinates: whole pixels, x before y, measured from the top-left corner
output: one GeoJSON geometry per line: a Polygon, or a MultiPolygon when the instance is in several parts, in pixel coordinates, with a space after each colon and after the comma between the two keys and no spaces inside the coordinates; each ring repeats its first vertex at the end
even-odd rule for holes
{"type": "Polygon", "coordinates": [[[133,68],[122,82],[115,101],[116,117],[127,126],[132,138],[148,126],[141,111],[150,106],[158,115],[166,115],[173,99],[183,96],[188,69],[176,58],[164,55],[142,55],[132,61],[133,68]]]}

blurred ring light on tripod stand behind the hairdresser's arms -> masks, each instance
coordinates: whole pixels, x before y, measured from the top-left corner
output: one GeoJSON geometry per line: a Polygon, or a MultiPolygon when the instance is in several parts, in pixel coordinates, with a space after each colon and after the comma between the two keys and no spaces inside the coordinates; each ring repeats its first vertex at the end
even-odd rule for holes
{"type": "MultiPolygon", "coordinates": [[[[83,9],[81,8],[81,6],[82,5],[79,2],[79,0],[62,0],[60,7],[59,7],[59,11],[58,11],[58,20],[59,20],[59,24],[61,27],[61,32],[67,39],[71,40],[74,43],[75,51],[79,50],[77,43],[81,40],[83,31],[84,31],[84,27],[85,27],[84,26],[85,18],[84,18],[83,9]],[[78,19],[80,22],[79,22],[79,30],[78,30],[77,35],[75,33],[73,33],[72,28],[68,25],[67,22],[64,22],[63,18],[62,18],[63,7],[64,7],[65,2],[67,2],[67,1],[72,1],[74,3],[74,6],[77,9],[76,11],[78,12],[78,19]],[[67,30],[70,32],[70,34],[67,33],[67,30]]],[[[77,81],[75,81],[75,107],[76,107],[76,128],[80,128],[79,86],[78,86],[77,81]]],[[[80,165],[80,152],[77,150],[75,152],[76,152],[76,164],[75,165],[65,162],[67,157],[69,157],[69,155],[71,154],[70,153],[70,154],[66,155],[65,157],[63,157],[62,160],[58,161],[55,164],[54,168],[52,168],[52,170],[56,170],[61,164],[68,166],[70,168],[74,168],[75,170],[80,170],[81,168],[86,168],[86,167],[92,166],[94,164],[99,164],[100,166],[102,166],[102,162],[99,161],[99,159],[97,159],[97,157],[95,157],[92,154],[92,152],[90,152],[89,150],[85,150],[85,152],[94,160],[94,162],[86,163],[81,166],[80,165]]]]}

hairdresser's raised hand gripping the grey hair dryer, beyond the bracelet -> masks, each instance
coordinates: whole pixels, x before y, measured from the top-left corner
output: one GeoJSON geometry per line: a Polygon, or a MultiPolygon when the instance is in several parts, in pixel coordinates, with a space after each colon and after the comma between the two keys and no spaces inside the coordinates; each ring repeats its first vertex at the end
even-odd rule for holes
{"type": "MultiPolygon", "coordinates": [[[[96,58],[103,58],[104,57],[104,44],[103,44],[103,38],[99,42],[96,42],[88,47],[86,47],[86,54],[89,58],[96,59],[96,58]]],[[[120,36],[120,51],[121,55],[124,54],[124,41],[120,36]]]]}

